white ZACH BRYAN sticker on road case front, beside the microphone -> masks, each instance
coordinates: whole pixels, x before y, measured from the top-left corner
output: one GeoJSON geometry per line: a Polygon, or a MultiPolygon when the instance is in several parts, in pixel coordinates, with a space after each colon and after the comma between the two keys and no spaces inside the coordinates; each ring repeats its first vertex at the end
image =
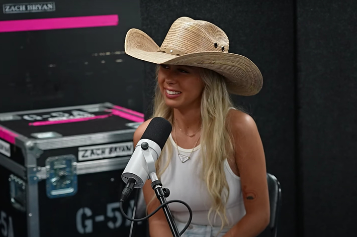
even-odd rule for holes
{"type": "Polygon", "coordinates": [[[91,147],[78,148],[78,161],[87,161],[116,156],[132,155],[134,151],[133,142],[116,143],[91,147]]]}

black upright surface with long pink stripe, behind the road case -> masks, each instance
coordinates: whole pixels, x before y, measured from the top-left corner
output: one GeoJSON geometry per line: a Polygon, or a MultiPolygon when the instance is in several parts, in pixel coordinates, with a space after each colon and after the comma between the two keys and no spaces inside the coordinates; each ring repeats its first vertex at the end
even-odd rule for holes
{"type": "MultiPolygon", "coordinates": [[[[0,112],[106,101],[142,112],[143,63],[124,52],[126,32],[140,28],[139,0],[49,3],[55,4],[54,11],[0,12],[0,21],[16,25],[11,21],[98,16],[118,20],[113,26],[52,29],[49,24],[44,30],[11,32],[1,25],[0,94],[7,99],[0,99],[0,112]]],[[[0,1],[4,11],[11,4],[19,1],[0,1]]]]}

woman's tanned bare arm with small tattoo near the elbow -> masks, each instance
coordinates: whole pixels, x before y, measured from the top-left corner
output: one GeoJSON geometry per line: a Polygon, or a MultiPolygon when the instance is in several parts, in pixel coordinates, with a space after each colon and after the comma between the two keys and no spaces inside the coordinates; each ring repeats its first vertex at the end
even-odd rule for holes
{"type": "Polygon", "coordinates": [[[234,111],[231,118],[246,215],[224,237],[255,237],[270,220],[263,146],[255,122],[248,114],[234,111]]]}

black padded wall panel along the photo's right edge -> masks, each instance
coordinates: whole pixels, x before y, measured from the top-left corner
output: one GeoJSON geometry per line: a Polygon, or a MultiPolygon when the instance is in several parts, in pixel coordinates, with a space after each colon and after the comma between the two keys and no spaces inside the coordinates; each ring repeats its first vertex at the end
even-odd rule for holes
{"type": "Polygon", "coordinates": [[[298,1],[304,237],[355,236],[357,2],[298,1]]]}

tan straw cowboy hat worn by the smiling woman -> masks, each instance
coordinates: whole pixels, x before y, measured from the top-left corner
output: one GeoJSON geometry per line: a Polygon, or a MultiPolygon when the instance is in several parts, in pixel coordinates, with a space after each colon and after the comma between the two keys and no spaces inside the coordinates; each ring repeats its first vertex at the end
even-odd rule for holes
{"type": "Polygon", "coordinates": [[[155,64],[211,69],[225,77],[227,89],[233,94],[254,95],[263,84],[258,67],[242,55],[228,53],[227,35],[210,22],[177,19],[161,47],[144,32],[130,29],[124,48],[126,54],[155,64]]]}

